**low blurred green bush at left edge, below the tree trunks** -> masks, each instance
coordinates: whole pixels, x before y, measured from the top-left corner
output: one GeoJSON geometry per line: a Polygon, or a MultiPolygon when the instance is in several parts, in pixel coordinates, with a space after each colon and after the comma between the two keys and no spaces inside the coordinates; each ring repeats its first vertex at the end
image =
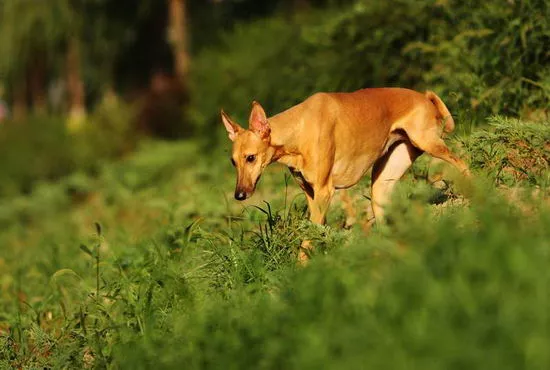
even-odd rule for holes
{"type": "Polygon", "coordinates": [[[59,117],[32,117],[0,127],[0,197],[29,193],[39,182],[73,171],[94,171],[106,159],[136,145],[132,108],[120,103],[99,106],[85,129],[69,133],[59,117]]]}

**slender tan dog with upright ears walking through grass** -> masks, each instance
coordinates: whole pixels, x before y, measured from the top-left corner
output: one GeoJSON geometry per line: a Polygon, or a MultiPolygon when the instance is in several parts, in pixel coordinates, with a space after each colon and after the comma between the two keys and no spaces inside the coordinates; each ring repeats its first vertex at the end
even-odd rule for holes
{"type": "MultiPolygon", "coordinates": [[[[304,190],[310,220],[323,224],[336,189],[355,184],[373,167],[372,205],[383,220],[384,205],[397,180],[423,152],[468,175],[466,164],[442,140],[454,121],[441,99],[399,88],[363,89],[352,93],[317,93],[267,118],[253,103],[249,129],[223,111],[222,121],[233,141],[231,161],[237,168],[235,198],[252,195],[267,165],[287,165],[304,190]]],[[[307,259],[304,249],[300,259],[307,259]]]]}

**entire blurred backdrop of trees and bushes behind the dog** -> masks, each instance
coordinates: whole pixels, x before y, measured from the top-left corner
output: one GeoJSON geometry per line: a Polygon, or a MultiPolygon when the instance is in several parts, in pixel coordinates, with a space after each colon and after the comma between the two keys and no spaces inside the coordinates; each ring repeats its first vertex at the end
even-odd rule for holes
{"type": "Polygon", "coordinates": [[[2,0],[0,195],[144,136],[216,144],[220,108],[244,120],[253,99],[402,86],[460,128],[545,118],[549,20],[546,0],[2,0]]]}

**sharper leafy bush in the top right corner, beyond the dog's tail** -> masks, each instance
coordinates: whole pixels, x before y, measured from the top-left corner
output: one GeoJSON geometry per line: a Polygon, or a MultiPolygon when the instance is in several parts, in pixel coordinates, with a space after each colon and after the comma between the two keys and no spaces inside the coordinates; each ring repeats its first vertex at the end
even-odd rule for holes
{"type": "Polygon", "coordinates": [[[427,86],[483,115],[547,111],[547,1],[450,1],[433,9],[438,16],[427,39],[404,49],[430,60],[427,86]]]}

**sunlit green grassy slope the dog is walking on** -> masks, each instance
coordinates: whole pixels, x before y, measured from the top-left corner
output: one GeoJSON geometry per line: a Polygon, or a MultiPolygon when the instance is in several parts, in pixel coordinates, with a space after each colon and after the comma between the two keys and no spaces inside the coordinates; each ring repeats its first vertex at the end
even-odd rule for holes
{"type": "MultiPolygon", "coordinates": [[[[479,180],[432,204],[423,159],[368,235],[338,200],[327,226],[305,221],[278,166],[233,201],[227,153],[193,142],[4,199],[0,367],[548,368],[547,124],[492,126],[455,140],[479,180]],[[495,145],[541,156],[503,183],[495,145]]],[[[362,222],[368,194],[352,192],[362,222]]]]}

